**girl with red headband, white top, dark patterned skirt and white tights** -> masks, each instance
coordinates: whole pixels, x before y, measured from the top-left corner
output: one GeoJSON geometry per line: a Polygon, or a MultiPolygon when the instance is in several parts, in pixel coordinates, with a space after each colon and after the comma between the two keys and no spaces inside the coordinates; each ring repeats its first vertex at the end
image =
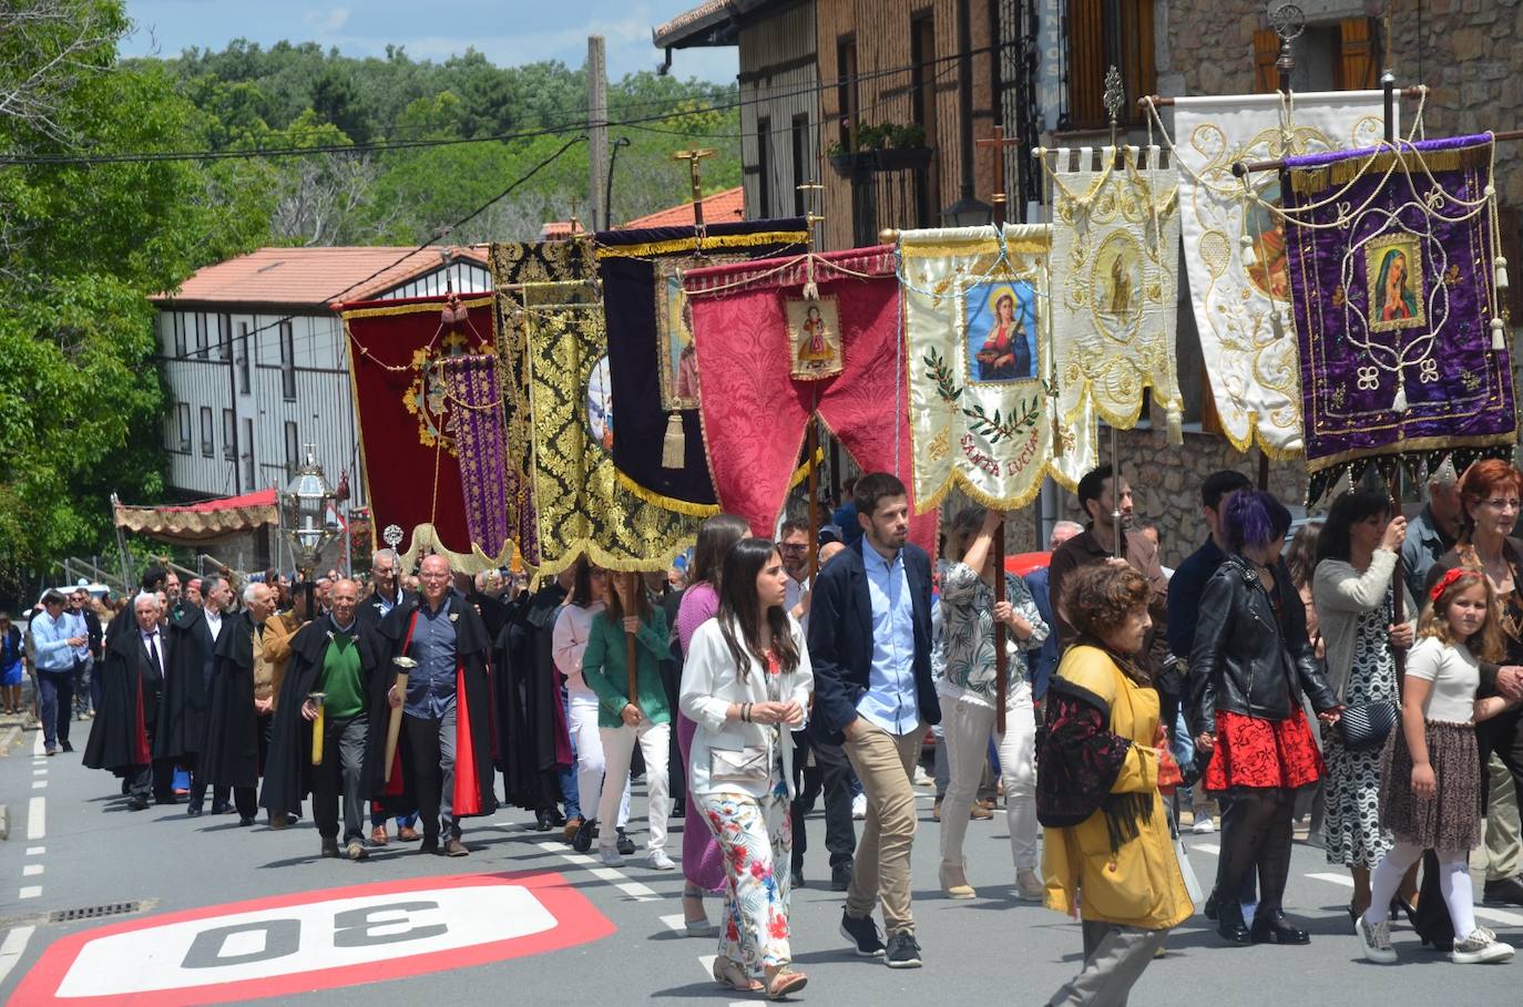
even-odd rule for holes
{"type": "Polygon", "coordinates": [[[1479,660],[1500,660],[1497,598],[1485,572],[1448,570],[1430,592],[1418,643],[1407,656],[1400,730],[1386,739],[1380,823],[1395,846],[1371,879],[1371,904],[1355,923],[1365,957],[1390,964],[1390,897],[1422,850],[1439,862],[1439,890],[1454,920],[1458,964],[1506,961],[1512,948],[1476,926],[1470,850],[1480,841],[1480,759],[1476,721],[1505,709],[1499,697],[1476,700],[1479,660]]]}

